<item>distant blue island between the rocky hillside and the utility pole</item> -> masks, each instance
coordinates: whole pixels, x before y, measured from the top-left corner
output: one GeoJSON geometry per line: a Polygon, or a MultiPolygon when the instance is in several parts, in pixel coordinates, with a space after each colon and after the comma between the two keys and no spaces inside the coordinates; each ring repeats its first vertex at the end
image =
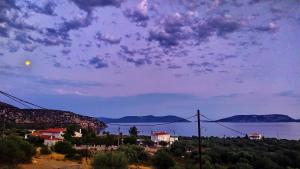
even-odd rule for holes
{"type": "Polygon", "coordinates": [[[99,120],[105,123],[163,123],[163,122],[190,122],[184,118],[177,116],[125,116],[122,118],[106,118],[99,117],[99,120]]]}

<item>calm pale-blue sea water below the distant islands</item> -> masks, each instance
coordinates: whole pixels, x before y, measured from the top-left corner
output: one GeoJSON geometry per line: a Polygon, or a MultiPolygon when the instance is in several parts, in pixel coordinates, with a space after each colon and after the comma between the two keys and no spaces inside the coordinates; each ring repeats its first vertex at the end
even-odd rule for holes
{"type": "MultiPolygon", "coordinates": [[[[120,126],[121,132],[128,134],[130,126],[136,125],[141,135],[150,135],[151,131],[166,131],[176,136],[196,136],[197,123],[173,123],[161,126],[138,126],[151,125],[155,123],[122,123],[120,126]]],[[[241,131],[243,133],[257,132],[263,134],[264,137],[273,137],[280,139],[299,140],[300,139],[300,123],[222,123],[230,128],[241,131]]],[[[106,131],[111,133],[118,132],[118,125],[108,124],[106,131]]],[[[231,130],[219,126],[216,123],[201,123],[201,131],[204,136],[217,137],[237,137],[241,136],[231,130]]]]}

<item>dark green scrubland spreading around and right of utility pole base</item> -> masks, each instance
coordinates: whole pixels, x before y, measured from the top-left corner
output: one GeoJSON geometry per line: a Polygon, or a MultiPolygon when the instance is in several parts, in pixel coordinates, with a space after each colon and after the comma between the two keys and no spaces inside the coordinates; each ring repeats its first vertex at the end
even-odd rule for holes
{"type": "MultiPolygon", "coordinates": [[[[197,139],[183,138],[169,149],[177,158],[185,156],[185,168],[197,168],[197,139]],[[191,152],[182,151],[183,148],[191,152]]],[[[202,163],[207,169],[286,169],[300,168],[300,141],[249,140],[247,138],[203,138],[202,163]]]]}

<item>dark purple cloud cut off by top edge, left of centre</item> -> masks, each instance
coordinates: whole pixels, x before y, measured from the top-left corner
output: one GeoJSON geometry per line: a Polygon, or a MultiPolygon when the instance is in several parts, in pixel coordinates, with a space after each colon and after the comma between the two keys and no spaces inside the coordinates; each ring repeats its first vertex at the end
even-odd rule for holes
{"type": "Polygon", "coordinates": [[[101,6],[114,6],[120,7],[123,0],[70,0],[74,2],[78,8],[87,11],[88,13],[92,12],[92,9],[95,7],[101,6]]]}

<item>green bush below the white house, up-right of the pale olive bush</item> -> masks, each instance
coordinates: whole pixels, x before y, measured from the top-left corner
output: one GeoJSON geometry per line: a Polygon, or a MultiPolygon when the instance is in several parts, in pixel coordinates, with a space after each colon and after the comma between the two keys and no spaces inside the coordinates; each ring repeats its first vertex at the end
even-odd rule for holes
{"type": "Polygon", "coordinates": [[[118,148],[118,151],[123,152],[129,163],[145,162],[149,159],[149,155],[145,149],[136,145],[123,145],[118,148]]]}

